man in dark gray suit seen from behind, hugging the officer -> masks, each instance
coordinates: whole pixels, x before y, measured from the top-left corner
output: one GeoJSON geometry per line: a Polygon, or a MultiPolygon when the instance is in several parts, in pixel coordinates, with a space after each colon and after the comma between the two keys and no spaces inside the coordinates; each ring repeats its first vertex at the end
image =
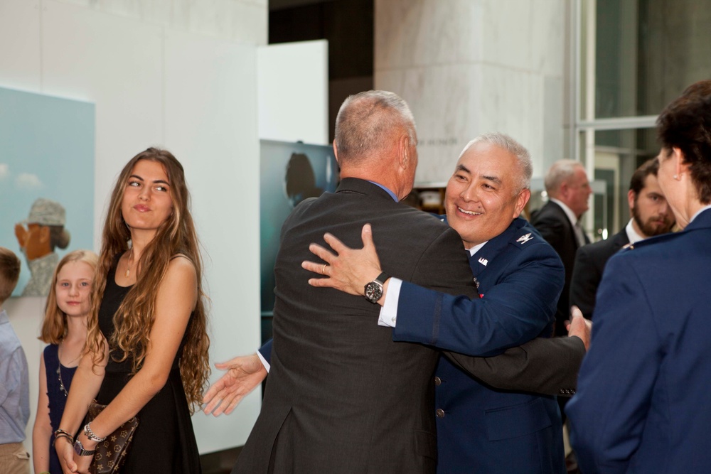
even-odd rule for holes
{"type": "Polygon", "coordinates": [[[341,185],[304,200],[282,228],[269,382],[233,473],[434,473],[432,377],[439,352],[393,343],[392,332],[373,323],[378,306],[372,303],[387,276],[368,284],[369,299],[353,298],[310,286],[301,268],[309,243],[322,241],[326,231],[355,245],[370,222],[388,269],[416,284],[476,297],[459,235],[397,203],[412,188],[416,143],[400,97],[371,91],[343,103],[334,141],[341,185]]]}

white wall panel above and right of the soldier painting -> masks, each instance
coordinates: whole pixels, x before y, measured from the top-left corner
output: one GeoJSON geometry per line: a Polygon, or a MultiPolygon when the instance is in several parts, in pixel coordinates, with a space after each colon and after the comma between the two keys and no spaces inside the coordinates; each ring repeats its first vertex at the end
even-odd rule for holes
{"type": "Polygon", "coordinates": [[[96,104],[96,247],[117,173],[163,141],[162,28],[45,1],[42,64],[46,94],[96,104]]]}

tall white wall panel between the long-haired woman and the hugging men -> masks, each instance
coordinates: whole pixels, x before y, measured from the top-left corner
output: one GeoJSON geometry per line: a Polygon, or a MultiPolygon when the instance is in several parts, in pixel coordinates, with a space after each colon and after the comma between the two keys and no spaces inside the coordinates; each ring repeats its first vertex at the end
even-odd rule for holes
{"type": "MultiPolygon", "coordinates": [[[[224,361],[260,340],[257,53],[169,31],[165,68],[165,144],[191,188],[212,300],[210,360],[224,361]]],[[[200,451],[244,444],[260,404],[257,389],[230,416],[193,416],[200,451]]]]}

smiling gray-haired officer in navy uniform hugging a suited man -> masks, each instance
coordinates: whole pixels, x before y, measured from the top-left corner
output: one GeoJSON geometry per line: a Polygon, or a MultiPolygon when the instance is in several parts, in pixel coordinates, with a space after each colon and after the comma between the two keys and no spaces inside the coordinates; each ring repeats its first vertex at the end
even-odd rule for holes
{"type": "MultiPolygon", "coordinates": [[[[447,221],[469,251],[481,299],[425,289],[392,271],[380,324],[394,326],[394,340],[486,354],[551,334],[563,267],[518,217],[530,197],[531,172],[528,151],[506,135],[486,134],[465,147],[447,184],[447,221]]],[[[314,247],[331,268],[329,279],[313,284],[357,293],[380,267],[390,273],[387,250],[367,231],[362,250],[333,237],[326,242],[337,257],[314,247]]],[[[565,473],[555,397],[493,389],[444,358],[435,385],[438,473],[565,473]]]]}

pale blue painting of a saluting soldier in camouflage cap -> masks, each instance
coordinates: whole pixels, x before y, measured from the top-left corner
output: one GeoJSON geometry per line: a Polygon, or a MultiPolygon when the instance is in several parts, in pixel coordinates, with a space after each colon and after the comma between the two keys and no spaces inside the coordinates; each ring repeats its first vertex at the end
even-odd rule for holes
{"type": "Polygon", "coordinates": [[[13,296],[46,296],[59,259],[93,249],[94,104],[0,87],[0,245],[13,296]]]}

